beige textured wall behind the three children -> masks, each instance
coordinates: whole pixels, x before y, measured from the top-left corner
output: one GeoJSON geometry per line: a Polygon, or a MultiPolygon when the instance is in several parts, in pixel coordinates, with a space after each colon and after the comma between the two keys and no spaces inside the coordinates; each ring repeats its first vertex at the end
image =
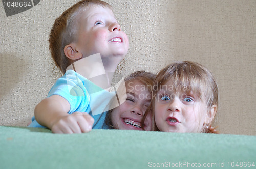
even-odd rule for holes
{"type": "MultiPolygon", "coordinates": [[[[51,61],[53,21],[77,1],[41,1],[6,17],[0,5],[0,125],[26,126],[61,73],[51,61]]],[[[108,0],[130,38],[117,71],[156,73],[177,60],[196,61],[220,87],[219,130],[256,135],[256,1],[108,0]]]]}

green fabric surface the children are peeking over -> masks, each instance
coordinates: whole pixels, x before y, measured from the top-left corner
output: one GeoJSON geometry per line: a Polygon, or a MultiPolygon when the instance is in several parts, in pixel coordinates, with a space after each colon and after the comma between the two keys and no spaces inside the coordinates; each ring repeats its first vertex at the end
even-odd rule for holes
{"type": "Polygon", "coordinates": [[[256,136],[0,126],[0,168],[256,168],[256,136]]]}

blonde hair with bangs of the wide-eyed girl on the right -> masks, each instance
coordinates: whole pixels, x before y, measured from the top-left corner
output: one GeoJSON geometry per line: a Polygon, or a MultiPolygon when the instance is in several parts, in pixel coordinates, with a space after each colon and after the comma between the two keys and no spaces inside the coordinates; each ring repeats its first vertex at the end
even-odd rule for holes
{"type": "MultiPolygon", "coordinates": [[[[218,86],[215,77],[210,73],[210,71],[199,63],[190,61],[174,62],[158,72],[156,79],[153,82],[151,104],[142,119],[143,125],[145,117],[152,116],[154,131],[159,131],[155,123],[154,112],[155,100],[158,99],[157,92],[166,87],[171,88],[174,92],[176,92],[176,90],[182,90],[187,94],[190,93],[190,91],[193,91],[199,99],[206,102],[208,109],[213,105],[216,105],[216,108],[218,109],[218,86]],[[169,86],[166,85],[167,83],[169,86]]],[[[202,132],[209,132],[210,126],[215,121],[215,118],[216,116],[214,116],[213,120],[209,124],[204,124],[202,132]],[[208,126],[208,128],[206,128],[206,126],[208,126]]]]}

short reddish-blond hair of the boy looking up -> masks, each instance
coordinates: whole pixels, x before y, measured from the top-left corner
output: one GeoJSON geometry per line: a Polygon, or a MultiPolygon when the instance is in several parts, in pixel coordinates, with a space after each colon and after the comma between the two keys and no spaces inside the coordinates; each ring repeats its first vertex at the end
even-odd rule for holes
{"type": "Polygon", "coordinates": [[[112,10],[112,6],[104,1],[79,1],[64,11],[58,18],[56,18],[51,29],[49,48],[51,51],[52,59],[63,74],[66,72],[67,67],[71,64],[69,59],[64,54],[64,47],[76,41],[78,36],[77,31],[80,14],[90,5],[100,5],[104,8],[109,8],[112,10]]]}

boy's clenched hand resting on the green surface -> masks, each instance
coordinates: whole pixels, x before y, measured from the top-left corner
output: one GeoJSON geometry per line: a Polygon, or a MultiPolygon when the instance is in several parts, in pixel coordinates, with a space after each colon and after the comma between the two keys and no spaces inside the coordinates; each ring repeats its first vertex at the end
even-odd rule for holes
{"type": "Polygon", "coordinates": [[[51,130],[59,134],[86,133],[92,130],[93,123],[94,119],[91,115],[73,112],[55,122],[51,130]]]}

